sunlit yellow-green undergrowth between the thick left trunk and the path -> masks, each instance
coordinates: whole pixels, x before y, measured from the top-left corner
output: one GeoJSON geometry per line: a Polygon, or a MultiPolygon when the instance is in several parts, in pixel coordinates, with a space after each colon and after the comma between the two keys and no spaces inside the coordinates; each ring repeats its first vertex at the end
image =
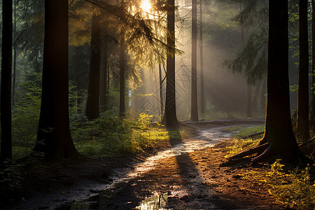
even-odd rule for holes
{"type": "Polygon", "coordinates": [[[106,111],[92,121],[82,115],[75,116],[71,120],[71,134],[78,152],[96,157],[135,153],[184,135],[183,132],[169,132],[159,123],[152,124],[153,116],[145,113],[137,118],[134,114],[124,119],[117,116],[113,111],[106,111]]]}

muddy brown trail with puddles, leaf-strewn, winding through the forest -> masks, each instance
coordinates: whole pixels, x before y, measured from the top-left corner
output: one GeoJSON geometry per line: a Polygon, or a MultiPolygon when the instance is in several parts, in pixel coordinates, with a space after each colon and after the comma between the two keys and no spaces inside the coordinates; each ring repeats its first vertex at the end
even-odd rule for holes
{"type": "MultiPolygon", "coordinates": [[[[237,126],[248,127],[260,123],[262,122],[243,122],[237,123],[237,126]]],[[[144,161],[130,162],[127,169],[112,171],[113,176],[106,179],[112,181],[111,183],[95,182],[92,185],[90,183],[90,186],[81,186],[82,195],[78,195],[78,189],[69,189],[64,200],[54,198],[48,204],[41,204],[39,208],[283,209],[274,204],[267,189],[258,183],[248,183],[240,179],[238,174],[251,168],[220,167],[224,153],[221,148],[211,146],[229,139],[233,133],[223,132],[223,128],[235,126],[235,123],[187,124],[197,128],[200,136],[174,139],[170,141],[169,149],[144,161]],[[88,193],[87,188],[90,189],[88,193]],[[89,198],[81,202],[69,202],[84,197],[89,198]]],[[[31,204],[23,206],[29,209],[31,204]]],[[[33,207],[38,209],[38,205],[33,207]]]]}

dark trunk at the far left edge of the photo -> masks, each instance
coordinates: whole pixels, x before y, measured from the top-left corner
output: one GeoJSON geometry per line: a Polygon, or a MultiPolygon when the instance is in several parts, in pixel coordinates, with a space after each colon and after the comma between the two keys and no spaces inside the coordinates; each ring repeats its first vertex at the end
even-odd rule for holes
{"type": "Polygon", "coordinates": [[[2,1],[1,161],[12,159],[12,0],[2,1]]]}

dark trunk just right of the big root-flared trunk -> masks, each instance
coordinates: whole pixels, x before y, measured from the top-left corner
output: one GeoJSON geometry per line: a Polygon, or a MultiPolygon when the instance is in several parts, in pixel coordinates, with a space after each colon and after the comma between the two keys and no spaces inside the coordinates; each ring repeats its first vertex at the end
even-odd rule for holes
{"type": "Polygon", "coordinates": [[[299,1],[300,10],[300,66],[297,104],[297,137],[309,139],[309,38],[307,28],[307,0],[299,1]]]}

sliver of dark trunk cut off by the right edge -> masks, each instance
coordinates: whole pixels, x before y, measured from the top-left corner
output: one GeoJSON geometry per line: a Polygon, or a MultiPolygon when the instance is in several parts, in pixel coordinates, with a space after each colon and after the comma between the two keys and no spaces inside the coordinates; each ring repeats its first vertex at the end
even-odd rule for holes
{"type": "Polygon", "coordinates": [[[309,117],[309,127],[315,132],[315,1],[311,0],[312,20],[311,20],[311,116],[309,117]]]}

